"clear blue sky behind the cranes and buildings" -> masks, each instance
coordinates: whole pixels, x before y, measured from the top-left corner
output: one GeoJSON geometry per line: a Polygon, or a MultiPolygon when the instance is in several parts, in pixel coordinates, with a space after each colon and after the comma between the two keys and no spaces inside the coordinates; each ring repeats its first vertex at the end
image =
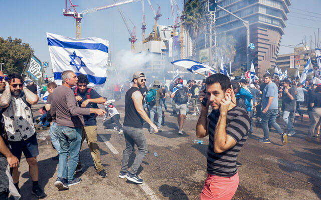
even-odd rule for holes
{"type": "MultiPolygon", "coordinates": [[[[159,18],[158,24],[172,24],[173,17],[170,0],[150,1],[155,10],[157,10],[158,5],[161,6],[162,17],[159,18]]],[[[319,39],[321,40],[321,0],[291,1],[290,13],[288,13],[288,20],[285,22],[287,27],[284,28],[285,34],[282,36],[281,44],[295,45],[304,39],[304,35],[309,44],[310,35],[312,35],[314,41],[314,31],[317,32],[317,27],[320,28],[319,39]],[[304,12],[294,8],[320,14],[304,12]],[[302,27],[300,25],[315,28],[302,27]]],[[[113,0],[72,0],[72,2],[79,5],[76,9],[81,12],[84,9],[111,4],[113,0]]],[[[177,3],[182,11],[183,0],[177,0],[177,3]]],[[[8,36],[18,37],[23,42],[30,43],[35,50],[35,55],[42,61],[50,61],[46,32],[76,37],[75,19],[66,17],[62,13],[65,8],[65,0],[1,0],[0,7],[2,8],[0,11],[0,36],[5,39],[8,36]]],[[[154,19],[147,0],[144,0],[144,7],[147,35],[151,31],[154,19]]],[[[122,5],[121,8],[125,13],[129,26],[132,28],[133,24],[128,20],[128,17],[136,25],[136,35],[138,40],[141,41],[141,2],[137,1],[122,5]]],[[[174,10],[177,16],[178,12],[175,5],[174,10]]],[[[112,52],[130,49],[129,33],[116,7],[85,14],[82,19],[81,36],[108,39],[110,42],[109,51],[112,52]]],[[[293,52],[293,48],[281,46],[280,53],[290,52],[293,52]]]]}

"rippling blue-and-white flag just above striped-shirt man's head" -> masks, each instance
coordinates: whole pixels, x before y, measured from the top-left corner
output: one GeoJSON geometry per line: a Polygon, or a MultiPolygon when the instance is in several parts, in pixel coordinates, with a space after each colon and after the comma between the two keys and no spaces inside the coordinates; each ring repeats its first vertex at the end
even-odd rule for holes
{"type": "Polygon", "coordinates": [[[191,72],[202,73],[204,71],[207,71],[211,73],[216,73],[216,71],[213,68],[211,68],[209,65],[204,64],[202,62],[194,61],[191,59],[178,59],[178,60],[172,61],[171,63],[176,66],[184,67],[191,72]]]}

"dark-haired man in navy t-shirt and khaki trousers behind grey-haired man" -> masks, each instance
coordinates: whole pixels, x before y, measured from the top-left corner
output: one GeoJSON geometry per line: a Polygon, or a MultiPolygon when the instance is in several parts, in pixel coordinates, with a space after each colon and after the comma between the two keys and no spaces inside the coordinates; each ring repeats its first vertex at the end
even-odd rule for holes
{"type": "MultiPolygon", "coordinates": [[[[75,93],[76,100],[80,107],[87,107],[87,108],[98,108],[97,103],[104,103],[106,100],[99,95],[93,88],[87,87],[89,84],[89,80],[87,75],[79,74],[77,76],[78,83],[77,87],[72,88],[75,93]]],[[[91,157],[94,161],[96,171],[100,177],[106,177],[107,173],[104,167],[101,164],[101,157],[99,146],[97,142],[97,123],[96,123],[96,116],[94,113],[83,115],[85,126],[81,127],[82,131],[82,142],[85,140],[88,143],[88,147],[90,150],[91,157]]],[[[81,147],[80,147],[81,148],[81,147]]],[[[79,160],[78,165],[76,167],[76,171],[81,171],[82,166],[79,160]]]]}

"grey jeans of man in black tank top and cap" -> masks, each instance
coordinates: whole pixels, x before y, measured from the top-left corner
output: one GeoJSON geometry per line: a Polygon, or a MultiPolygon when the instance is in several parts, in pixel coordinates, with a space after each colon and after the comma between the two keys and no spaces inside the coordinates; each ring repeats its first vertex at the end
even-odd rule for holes
{"type": "Polygon", "coordinates": [[[122,159],[121,159],[121,170],[127,172],[128,171],[128,160],[129,156],[132,153],[132,149],[136,144],[138,148],[138,152],[134,159],[134,162],[131,165],[130,173],[136,174],[138,167],[140,166],[141,161],[144,159],[147,154],[147,145],[146,145],[146,137],[142,128],[134,128],[130,126],[123,126],[126,148],[123,151],[122,159]]]}

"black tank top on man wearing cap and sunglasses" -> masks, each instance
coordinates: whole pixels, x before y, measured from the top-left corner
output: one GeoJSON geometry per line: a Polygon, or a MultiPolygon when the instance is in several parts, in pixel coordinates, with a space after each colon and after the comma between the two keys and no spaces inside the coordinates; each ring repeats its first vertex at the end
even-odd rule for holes
{"type": "Polygon", "coordinates": [[[140,114],[137,112],[134,101],[131,99],[133,92],[140,90],[137,87],[131,87],[128,89],[125,95],[125,118],[124,126],[130,126],[135,128],[142,128],[143,119],[140,114]]]}

